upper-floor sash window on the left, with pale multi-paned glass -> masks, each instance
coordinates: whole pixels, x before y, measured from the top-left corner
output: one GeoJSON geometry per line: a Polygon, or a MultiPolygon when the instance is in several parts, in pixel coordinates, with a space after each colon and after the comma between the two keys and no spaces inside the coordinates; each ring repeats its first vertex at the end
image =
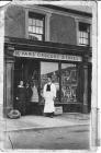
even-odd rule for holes
{"type": "Polygon", "coordinates": [[[29,38],[33,40],[45,39],[45,16],[29,12],[29,38]]]}

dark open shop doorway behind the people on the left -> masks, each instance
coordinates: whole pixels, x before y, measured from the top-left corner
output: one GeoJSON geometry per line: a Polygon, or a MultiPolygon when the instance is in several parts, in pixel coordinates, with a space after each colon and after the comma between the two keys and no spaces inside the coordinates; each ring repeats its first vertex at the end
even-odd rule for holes
{"type": "MultiPolygon", "coordinates": [[[[26,84],[30,85],[32,90],[32,95],[26,101],[26,115],[36,114],[37,105],[40,101],[40,61],[34,59],[19,59],[16,58],[14,64],[14,99],[16,103],[16,89],[20,83],[23,81],[24,87],[26,84]]],[[[14,103],[14,108],[16,107],[14,103]]]]}

